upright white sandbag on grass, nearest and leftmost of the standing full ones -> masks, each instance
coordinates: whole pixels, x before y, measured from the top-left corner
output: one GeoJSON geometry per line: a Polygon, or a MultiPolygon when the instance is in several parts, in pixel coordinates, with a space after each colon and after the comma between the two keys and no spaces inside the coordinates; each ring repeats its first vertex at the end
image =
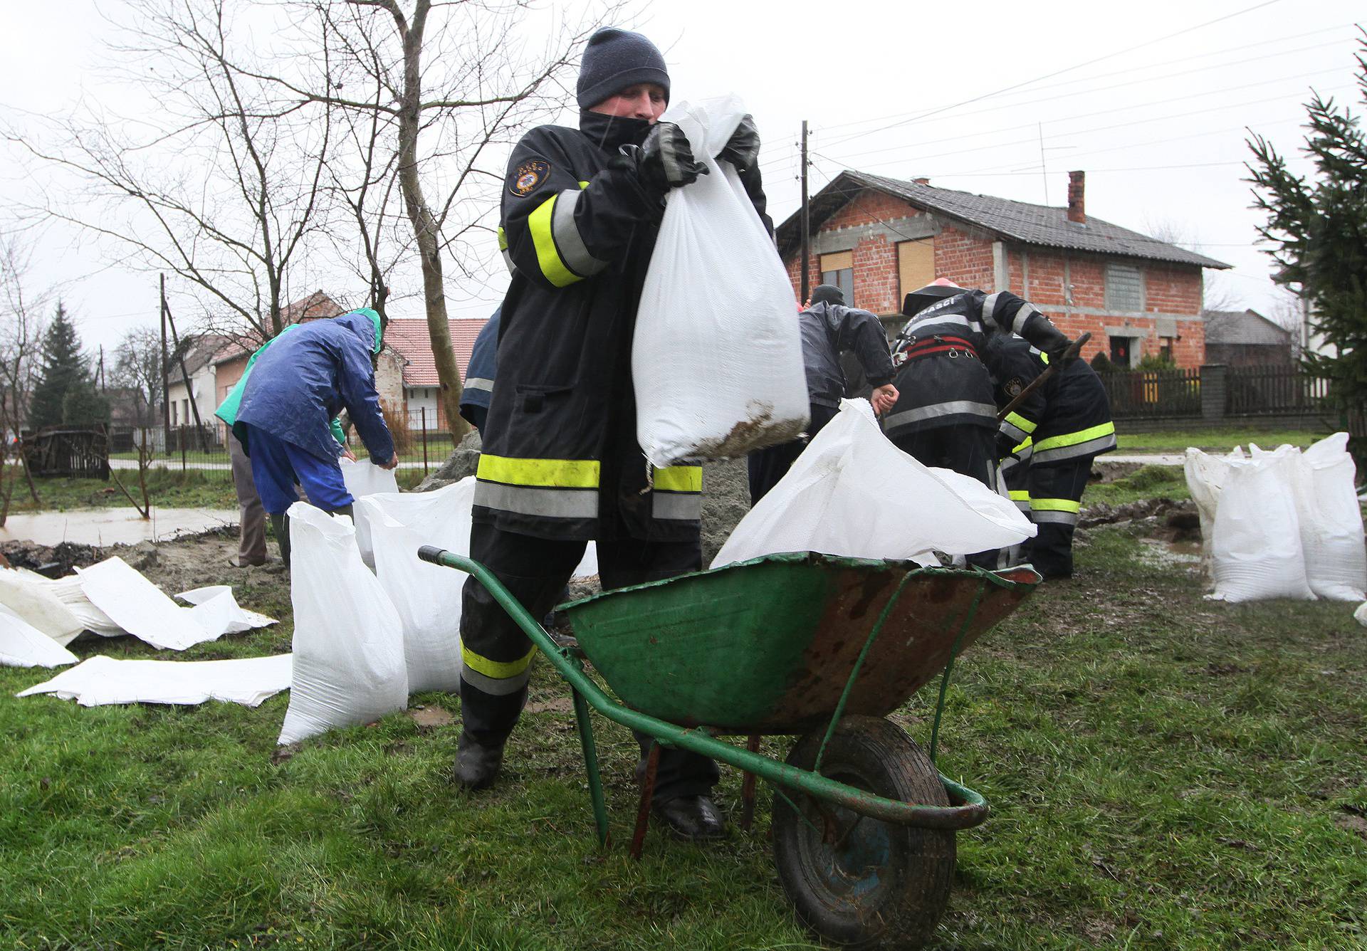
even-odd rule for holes
{"type": "Polygon", "coordinates": [[[280,743],[369,723],[409,700],[403,629],[344,515],[290,506],[294,676],[280,743]]]}

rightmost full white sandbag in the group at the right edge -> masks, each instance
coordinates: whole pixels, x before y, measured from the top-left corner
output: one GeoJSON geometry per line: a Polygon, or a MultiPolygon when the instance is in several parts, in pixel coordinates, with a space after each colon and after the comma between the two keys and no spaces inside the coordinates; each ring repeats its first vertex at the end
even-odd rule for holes
{"type": "Polygon", "coordinates": [[[1296,474],[1310,589],[1330,601],[1362,601],[1367,597],[1367,548],[1348,433],[1327,436],[1300,454],[1296,474]]]}

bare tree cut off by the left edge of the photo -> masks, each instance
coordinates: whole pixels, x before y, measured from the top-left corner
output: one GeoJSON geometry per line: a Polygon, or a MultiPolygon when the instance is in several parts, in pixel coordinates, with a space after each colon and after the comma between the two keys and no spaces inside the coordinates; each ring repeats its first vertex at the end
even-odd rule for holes
{"type": "Polygon", "coordinates": [[[22,433],[37,381],[45,297],[27,292],[27,271],[29,250],[22,238],[0,236],[0,526],[10,516],[18,471],[23,471],[33,503],[40,504],[22,433]]]}

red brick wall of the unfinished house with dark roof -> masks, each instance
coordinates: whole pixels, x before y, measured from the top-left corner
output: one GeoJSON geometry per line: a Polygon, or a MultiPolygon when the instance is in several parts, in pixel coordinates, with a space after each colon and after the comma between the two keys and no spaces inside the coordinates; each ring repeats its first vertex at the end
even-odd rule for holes
{"type": "MultiPolygon", "coordinates": [[[[921,215],[904,201],[878,191],[865,191],[826,221],[820,234],[861,227],[891,219],[921,215]]],[[[800,288],[798,254],[785,264],[793,281],[794,297],[800,288]]],[[[901,309],[897,272],[897,243],[883,236],[864,238],[853,249],[854,305],[878,314],[901,309]]],[[[1044,247],[1006,246],[1010,290],[1035,303],[1058,328],[1077,336],[1091,331],[1092,340],[1084,358],[1110,351],[1107,327],[1125,327],[1141,335],[1140,355],[1156,354],[1161,340],[1156,320],[1151,316],[1106,313],[1106,262],[1099,254],[1066,253],[1044,247]],[[1069,288],[1068,284],[1072,284],[1069,288]]],[[[820,283],[820,257],[812,254],[809,280],[820,283]]],[[[1199,366],[1204,359],[1204,324],[1199,320],[1202,271],[1195,266],[1128,261],[1144,272],[1144,314],[1176,316],[1177,340],[1173,357],[1178,366],[1199,366]],[[1189,317],[1182,320],[1182,317],[1189,317]]],[[[961,287],[995,288],[997,275],[990,238],[976,238],[956,224],[940,220],[935,236],[935,276],[949,277],[961,287]]]]}

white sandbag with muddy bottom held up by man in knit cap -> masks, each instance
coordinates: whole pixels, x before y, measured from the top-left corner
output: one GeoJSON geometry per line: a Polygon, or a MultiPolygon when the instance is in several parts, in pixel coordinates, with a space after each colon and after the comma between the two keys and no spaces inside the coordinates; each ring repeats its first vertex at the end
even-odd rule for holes
{"type": "Polygon", "coordinates": [[[662,116],[709,174],[668,193],[637,310],[636,432],[656,466],[737,458],[808,424],[793,286],[735,169],[714,157],[744,115],[731,96],[662,116]]]}

